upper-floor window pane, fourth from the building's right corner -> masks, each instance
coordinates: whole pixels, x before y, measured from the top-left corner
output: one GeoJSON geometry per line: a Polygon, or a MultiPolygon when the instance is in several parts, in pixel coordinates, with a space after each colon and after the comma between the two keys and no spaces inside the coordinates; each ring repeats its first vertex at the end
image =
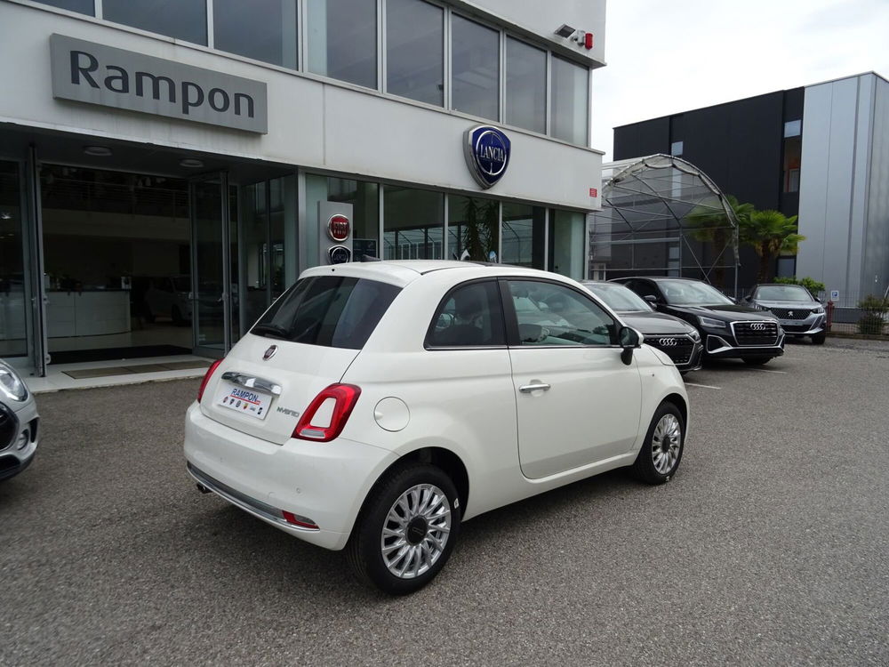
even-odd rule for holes
{"type": "Polygon", "coordinates": [[[418,0],[386,4],[386,90],[445,103],[445,11],[418,0]]]}

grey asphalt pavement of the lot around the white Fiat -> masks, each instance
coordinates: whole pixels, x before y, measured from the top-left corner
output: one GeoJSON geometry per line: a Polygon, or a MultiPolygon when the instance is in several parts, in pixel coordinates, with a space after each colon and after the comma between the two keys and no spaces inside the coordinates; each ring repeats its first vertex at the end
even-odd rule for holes
{"type": "Polygon", "coordinates": [[[689,374],[677,476],[622,471],[469,521],[426,589],[198,494],[198,381],[37,397],[0,483],[0,664],[889,663],[889,344],[689,374]]]}

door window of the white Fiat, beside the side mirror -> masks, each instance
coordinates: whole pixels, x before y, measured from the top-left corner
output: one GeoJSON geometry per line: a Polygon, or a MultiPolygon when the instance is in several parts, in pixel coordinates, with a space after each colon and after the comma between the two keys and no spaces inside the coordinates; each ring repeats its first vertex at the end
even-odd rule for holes
{"type": "Polygon", "coordinates": [[[519,342],[525,345],[613,345],[617,327],[595,301],[566,285],[510,280],[519,342]]]}

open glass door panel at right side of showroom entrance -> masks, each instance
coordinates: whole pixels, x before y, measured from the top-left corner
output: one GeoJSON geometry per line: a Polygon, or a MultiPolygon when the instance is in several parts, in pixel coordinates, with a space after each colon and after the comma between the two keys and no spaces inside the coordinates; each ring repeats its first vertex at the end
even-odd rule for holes
{"type": "Polygon", "coordinates": [[[191,322],[194,352],[220,358],[231,348],[228,176],[191,181],[191,322]]]}

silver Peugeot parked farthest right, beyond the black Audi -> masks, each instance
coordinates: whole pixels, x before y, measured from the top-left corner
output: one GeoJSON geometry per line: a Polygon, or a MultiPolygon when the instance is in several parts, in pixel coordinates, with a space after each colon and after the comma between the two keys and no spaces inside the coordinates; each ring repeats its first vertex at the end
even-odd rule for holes
{"type": "Polygon", "coordinates": [[[815,345],[823,344],[827,322],[824,306],[803,285],[755,285],[744,302],[770,310],[788,336],[809,336],[815,345]]]}

